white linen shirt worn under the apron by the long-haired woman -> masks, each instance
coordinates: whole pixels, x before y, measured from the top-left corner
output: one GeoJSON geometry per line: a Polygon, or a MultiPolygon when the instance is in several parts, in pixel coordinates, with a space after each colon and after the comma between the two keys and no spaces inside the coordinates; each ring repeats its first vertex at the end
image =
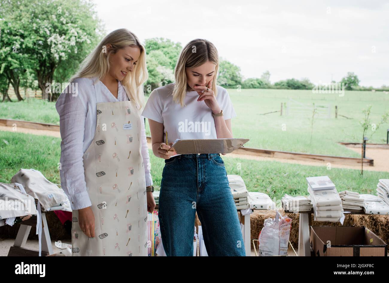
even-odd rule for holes
{"type": "MultiPolygon", "coordinates": [[[[61,187],[70,200],[72,209],[82,209],[92,205],[86,190],[83,155],[93,141],[96,131],[97,115],[96,103],[126,101],[128,96],[123,85],[118,81],[117,99],[109,89],[95,77],[100,84],[101,94],[96,96],[93,85],[94,78],[77,78],[72,81],[73,87],[77,83],[77,95],[65,88],[55,104],[60,115],[61,159],[60,177],[61,187]],[[100,97],[102,101],[96,101],[100,97]]],[[[141,121],[142,157],[145,168],[146,186],[152,185],[150,174],[150,157],[147,147],[144,118],[141,121]]]]}

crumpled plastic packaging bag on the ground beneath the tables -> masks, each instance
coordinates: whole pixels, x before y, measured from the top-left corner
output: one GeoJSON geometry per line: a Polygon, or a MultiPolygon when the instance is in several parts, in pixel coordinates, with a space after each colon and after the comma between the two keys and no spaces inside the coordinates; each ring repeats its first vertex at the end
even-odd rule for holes
{"type": "Polygon", "coordinates": [[[259,233],[259,256],[286,256],[288,252],[289,234],[292,219],[280,216],[268,218],[259,233]]]}

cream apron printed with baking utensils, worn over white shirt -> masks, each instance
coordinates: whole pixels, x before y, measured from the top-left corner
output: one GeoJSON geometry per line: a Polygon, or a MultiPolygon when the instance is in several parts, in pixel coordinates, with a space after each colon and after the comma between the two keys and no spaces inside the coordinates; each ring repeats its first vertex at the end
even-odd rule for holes
{"type": "Polygon", "coordinates": [[[83,156],[95,238],[82,232],[73,210],[72,256],[147,256],[140,113],[130,100],[96,103],[96,108],[95,137],[83,156]]]}

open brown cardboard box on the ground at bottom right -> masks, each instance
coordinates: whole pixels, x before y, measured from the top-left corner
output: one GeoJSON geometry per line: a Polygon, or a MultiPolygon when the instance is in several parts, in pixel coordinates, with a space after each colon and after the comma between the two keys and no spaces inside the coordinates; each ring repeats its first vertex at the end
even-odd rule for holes
{"type": "Polygon", "coordinates": [[[315,256],[387,256],[387,244],[364,226],[311,226],[310,243],[315,256]]]}

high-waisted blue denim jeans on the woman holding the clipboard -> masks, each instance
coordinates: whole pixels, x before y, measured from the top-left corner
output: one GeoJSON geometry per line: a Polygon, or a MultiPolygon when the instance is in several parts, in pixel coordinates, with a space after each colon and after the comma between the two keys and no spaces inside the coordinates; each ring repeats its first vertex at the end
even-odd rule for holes
{"type": "Polygon", "coordinates": [[[158,217],[167,256],[193,256],[196,211],[209,256],[245,256],[237,208],[217,153],[165,159],[158,217]]]}

